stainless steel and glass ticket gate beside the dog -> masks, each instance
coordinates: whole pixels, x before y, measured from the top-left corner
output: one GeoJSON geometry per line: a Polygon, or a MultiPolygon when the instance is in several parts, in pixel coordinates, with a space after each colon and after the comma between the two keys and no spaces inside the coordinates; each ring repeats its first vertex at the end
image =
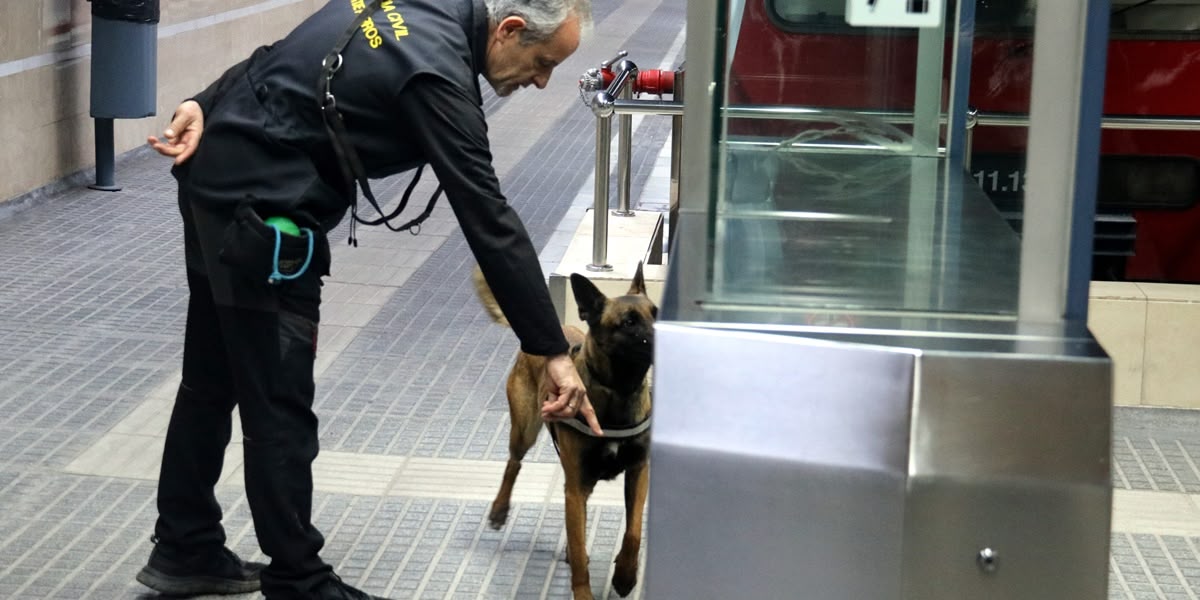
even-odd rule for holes
{"type": "Polygon", "coordinates": [[[919,40],[906,114],[731,100],[745,25],[689,4],[647,598],[1108,596],[1111,364],[1086,329],[1108,2],[1038,4],[1020,235],[964,164],[972,1],[877,31],[919,40]]]}

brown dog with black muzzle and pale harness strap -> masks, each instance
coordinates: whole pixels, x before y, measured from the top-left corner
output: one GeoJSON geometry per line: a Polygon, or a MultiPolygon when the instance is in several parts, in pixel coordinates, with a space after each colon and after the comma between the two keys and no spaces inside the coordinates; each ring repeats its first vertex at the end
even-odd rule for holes
{"type": "MultiPolygon", "coordinates": [[[[475,270],[480,300],[498,323],[505,323],[491,290],[475,270]]],[[[642,265],[626,295],[607,298],[582,275],[571,275],[571,289],[588,334],[564,326],[575,368],[605,431],[595,437],[578,419],[548,424],[566,479],[566,559],[571,565],[575,600],[592,600],[587,554],[587,500],[596,481],[625,473],[625,536],[617,554],[613,589],[629,595],[637,584],[637,556],[642,545],[642,510],[649,486],[647,463],[650,444],[650,391],[647,373],[654,359],[654,319],[658,307],[646,295],[642,265]]],[[[492,502],[488,522],[499,529],[509,516],[512,484],[521,458],[541,431],[541,400],[547,397],[546,359],[517,354],[506,386],[512,430],[504,481],[492,502]]]]}

